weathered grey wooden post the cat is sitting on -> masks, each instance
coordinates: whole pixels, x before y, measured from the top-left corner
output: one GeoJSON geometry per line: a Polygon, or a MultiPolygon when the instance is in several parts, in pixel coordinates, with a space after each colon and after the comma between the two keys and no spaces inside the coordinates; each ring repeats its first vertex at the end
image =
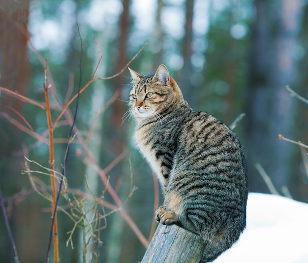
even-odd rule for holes
{"type": "Polygon", "coordinates": [[[203,239],[177,225],[158,224],[141,263],[199,263],[203,239]]]}

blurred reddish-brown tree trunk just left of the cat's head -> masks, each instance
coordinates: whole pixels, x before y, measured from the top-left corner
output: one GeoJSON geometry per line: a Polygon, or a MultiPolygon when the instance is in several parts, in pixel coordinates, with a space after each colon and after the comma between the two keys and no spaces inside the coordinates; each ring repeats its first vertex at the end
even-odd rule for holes
{"type": "MultiPolygon", "coordinates": [[[[113,72],[119,72],[127,63],[127,40],[129,36],[129,26],[130,26],[130,5],[131,0],[122,0],[123,10],[119,19],[118,30],[119,34],[116,38],[116,45],[112,52],[115,53],[116,64],[114,65],[113,72]]],[[[126,72],[125,72],[126,73],[126,72]]],[[[122,93],[123,84],[127,82],[125,74],[121,74],[113,81],[112,91],[117,94],[122,93]]],[[[121,96],[119,96],[121,98],[121,96]]],[[[126,98],[123,98],[126,100],[126,98]]],[[[123,100],[119,98],[112,105],[112,123],[109,124],[109,136],[105,137],[105,141],[110,141],[110,148],[112,154],[116,157],[126,148],[127,144],[126,138],[128,134],[121,129],[122,117],[124,112],[127,110],[123,100]]],[[[110,154],[110,153],[109,153],[110,154]]],[[[127,183],[124,175],[127,175],[129,167],[126,165],[116,166],[112,171],[111,183],[113,185],[121,185],[121,191],[119,192],[120,198],[124,200],[126,194],[129,191],[129,184],[127,183]],[[127,191],[128,190],[128,191],[127,191]]],[[[124,221],[122,216],[117,213],[112,216],[112,220],[109,221],[108,226],[108,243],[106,243],[106,262],[117,263],[120,261],[121,256],[123,256],[123,246],[130,246],[130,244],[123,244],[123,228],[124,221]]],[[[126,257],[126,256],[124,256],[126,257]]]]}

